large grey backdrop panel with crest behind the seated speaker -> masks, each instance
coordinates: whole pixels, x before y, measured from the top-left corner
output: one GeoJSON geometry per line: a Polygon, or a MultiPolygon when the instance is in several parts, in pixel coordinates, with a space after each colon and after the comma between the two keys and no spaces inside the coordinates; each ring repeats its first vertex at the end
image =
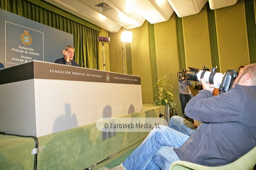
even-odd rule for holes
{"type": "Polygon", "coordinates": [[[55,62],[63,57],[73,35],[0,9],[0,69],[33,60],[55,62]]]}

